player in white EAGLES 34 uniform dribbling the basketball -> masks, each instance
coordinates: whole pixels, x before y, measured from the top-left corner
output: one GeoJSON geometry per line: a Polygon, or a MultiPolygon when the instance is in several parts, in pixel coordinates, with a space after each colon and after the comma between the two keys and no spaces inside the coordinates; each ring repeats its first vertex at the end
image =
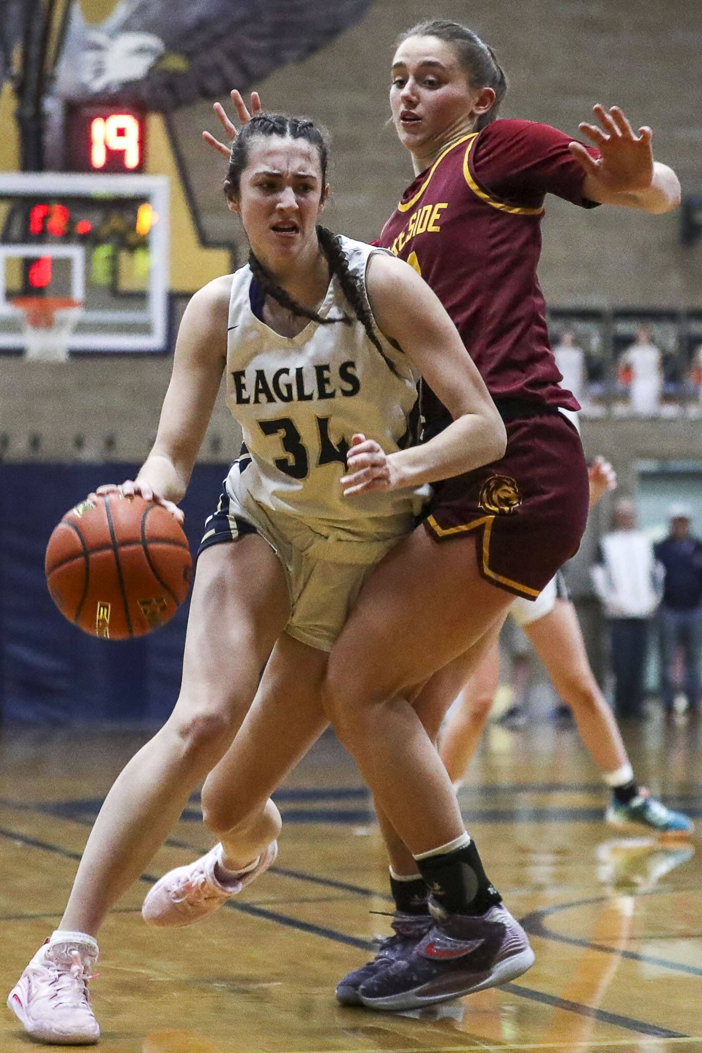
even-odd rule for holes
{"type": "MultiPolygon", "coordinates": [[[[141,493],[182,518],[176,503],[226,370],[245,448],[207,521],[179,699],[113,786],[60,926],[8,997],[46,1042],[97,1041],[87,979],[100,925],[226,752],[272,652],[259,694],[272,686],[285,702],[268,757],[287,751],[305,707],[319,719],[327,652],[374,564],[412,530],[426,483],[504,450],[504,425],[428,286],[384,251],[317,226],[326,159],[306,120],[260,115],[237,138],[225,192],[249,264],[190,300],[154,449],[136,481],[101,488],[141,493]],[[420,374],[455,419],[413,448],[420,374]]],[[[218,807],[215,786],[205,801],[215,828],[218,807]]],[[[269,802],[223,836],[207,860],[214,887],[228,895],[269,867],[279,829],[269,802]]]]}

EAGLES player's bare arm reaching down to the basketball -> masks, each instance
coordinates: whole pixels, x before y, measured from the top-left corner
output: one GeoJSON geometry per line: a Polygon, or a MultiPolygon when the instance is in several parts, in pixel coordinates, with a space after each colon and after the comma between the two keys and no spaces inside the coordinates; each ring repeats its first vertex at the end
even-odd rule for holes
{"type": "MultiPolygon", "coordinates": [[[[226,365],[226,326],[232,275],[199,290],[183,314],[171,382],[156,441],[137,478],[119,488],[157,500],[181,520],[176,508],[189,482],[226,365]]],[[[101,486],[99,493],[115,489],[101,486]]]]}

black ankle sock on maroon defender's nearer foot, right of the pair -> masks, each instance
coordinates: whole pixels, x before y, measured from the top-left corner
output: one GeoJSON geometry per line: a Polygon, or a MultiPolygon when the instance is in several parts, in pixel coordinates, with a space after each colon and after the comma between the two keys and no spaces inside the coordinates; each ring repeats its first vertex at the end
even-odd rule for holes
{"type": "Polygon", "coordinates": [[[490,885],[473,841],[453,852],[418,859],[422,877],[440,907],[452,914],[484,914],[502,896],[490,885]]]}

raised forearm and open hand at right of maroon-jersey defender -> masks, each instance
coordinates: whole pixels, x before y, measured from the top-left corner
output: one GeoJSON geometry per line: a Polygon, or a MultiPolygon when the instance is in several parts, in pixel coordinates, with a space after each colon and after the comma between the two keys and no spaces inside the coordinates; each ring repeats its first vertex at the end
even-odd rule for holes
{"type": "Polygon", "coordinates": [[[619,106],[605,110],[598,104],[593,113],[601,126],[583,122],[580,131],[600,156],[593,157],[580,142],[568,146],[585,173],[583,197],[656,214],[676,208],[680,182],[673,168],[654,160],[650,128],[635,132],[619,106]]]}

